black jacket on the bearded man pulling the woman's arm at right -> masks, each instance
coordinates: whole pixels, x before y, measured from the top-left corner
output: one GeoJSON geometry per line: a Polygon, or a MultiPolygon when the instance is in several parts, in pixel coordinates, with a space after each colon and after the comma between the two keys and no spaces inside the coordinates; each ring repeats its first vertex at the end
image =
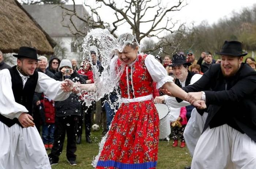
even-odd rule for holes
{"type": "Polygon", "coordinates": [[[186,92],[204,91],[208,117],[204,130],[227,124],[256,141],[256,72],[242,63],[237,73],[225,78],[220,64],[213,64],[186,92]],[[212,91],[205,91],[211,88],[212,91]]]}

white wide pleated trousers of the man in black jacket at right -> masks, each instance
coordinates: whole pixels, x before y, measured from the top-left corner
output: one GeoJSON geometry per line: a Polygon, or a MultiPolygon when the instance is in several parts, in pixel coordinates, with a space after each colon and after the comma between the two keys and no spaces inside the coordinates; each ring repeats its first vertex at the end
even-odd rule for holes
{"type": "Polygon", "coordinates": [[[256,142],[225,124],[200,136],[192,159],[192,169],[255,169],[256,142]]]}

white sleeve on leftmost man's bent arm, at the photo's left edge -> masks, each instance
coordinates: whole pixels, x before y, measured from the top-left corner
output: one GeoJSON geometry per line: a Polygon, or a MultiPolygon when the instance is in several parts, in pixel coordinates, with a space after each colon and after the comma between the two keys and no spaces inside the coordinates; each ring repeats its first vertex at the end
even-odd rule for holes
{"type": "Polygon", "coordinates": [[[8,69],[0,71],[0,113],[7,118],[18,118],[23,112],[28,112],[25,106],[15,102],[12,92],[11,74],[8,69]]]}

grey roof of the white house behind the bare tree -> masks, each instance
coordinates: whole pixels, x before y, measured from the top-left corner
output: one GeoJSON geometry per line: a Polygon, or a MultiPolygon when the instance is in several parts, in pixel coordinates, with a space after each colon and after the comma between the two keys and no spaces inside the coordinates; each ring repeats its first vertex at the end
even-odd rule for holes
{"type": "MultiPolygon", "coordinates": [[[[24,9],[37,21],[39,25],[49,34],[52,38],[54,37],[67,37],[74,36],[77,31],[71,24],[70,16],[66,15],[65,9],[62,9],[60,5],[57,4],[44,4],[44,5],[22,5],[24,9]],[[67,25],[71,28],[69,30],[67,25]],[[58,30],[58,31],[56,31],[58,30]]],[[[64,8],[73,10],[76,9],[76,14],[82,18],[89,15],[83,5],[63,5],[64,8]]],[[[78,28],[78,30],[86,33],[91,28],[84,21],[78,19],[77,17],[72,17],[72,22],[78,28]]]]}

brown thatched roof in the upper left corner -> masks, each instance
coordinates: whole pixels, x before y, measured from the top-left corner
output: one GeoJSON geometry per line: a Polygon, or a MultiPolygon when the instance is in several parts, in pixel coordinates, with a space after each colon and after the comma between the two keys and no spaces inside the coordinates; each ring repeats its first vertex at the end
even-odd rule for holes
{"type": "Polygon", "coordinates": [[[0,21],[3,53],[17,53],[20,46],[31,46],[38,54],[53,54],[56,43],[17,0],[0,0],[0,21]]]}

